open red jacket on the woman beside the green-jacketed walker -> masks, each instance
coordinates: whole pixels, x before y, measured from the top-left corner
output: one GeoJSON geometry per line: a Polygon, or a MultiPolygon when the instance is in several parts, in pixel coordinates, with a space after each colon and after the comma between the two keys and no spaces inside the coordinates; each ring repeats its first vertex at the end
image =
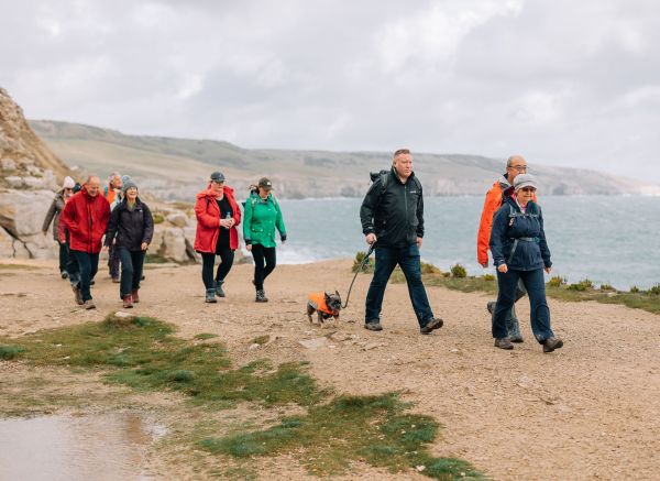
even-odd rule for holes
{"type": "MultiPolygon", "coordinates": [[[[233,188],[224,186],[224,197],[233,211],[234,225],[229,230],[229,248],[232,251],[239,249],[239,231],[237,226],[241,223],[241,209],[233,195],[233,188]]],[[[216,201],[216,193],[211,185],[206,190],[197,194],[195,203],[195,215],[197,216],[197,232],[195,233],[195,250],[197,252],[216,252],[218,236],[220,236],[220,207],[216,201]]]]}

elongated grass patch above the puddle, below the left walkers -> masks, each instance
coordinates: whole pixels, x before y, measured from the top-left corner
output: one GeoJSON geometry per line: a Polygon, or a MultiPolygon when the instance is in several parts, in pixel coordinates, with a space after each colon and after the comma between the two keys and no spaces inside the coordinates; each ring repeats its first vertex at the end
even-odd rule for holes
{"type": "Polygon", "coordinates": [[[25,336],[11,352],[12,359],[37,365],[109,369],[106,379],[111,382],[135,390],[179,391],[196,403],[309,405],[323,394],[299,363],[272,370],[267,362],[257,361],[230,369],[221,345],[195,345],[172,336],[173,331],[170,325],[148,317],[110,315],[101,323],[25,336]]]}

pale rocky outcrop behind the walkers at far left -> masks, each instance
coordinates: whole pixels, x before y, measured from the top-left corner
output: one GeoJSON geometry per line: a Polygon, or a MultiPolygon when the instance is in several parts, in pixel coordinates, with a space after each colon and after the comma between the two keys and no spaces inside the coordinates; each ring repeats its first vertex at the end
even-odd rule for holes
{"type": "MultiPolygon", "coordinates": [[[[72,173],[36,136],[22,109],[1,88],[0,168],[0,259],[57,258],[58,245],[53,236],[44,236],[42,223],[64,176],[74,174],[80,179],[80,175],[72,173]]],[[[197,262],[191,212],[156,207],[154,214],[152,259],[197,262]]]]}

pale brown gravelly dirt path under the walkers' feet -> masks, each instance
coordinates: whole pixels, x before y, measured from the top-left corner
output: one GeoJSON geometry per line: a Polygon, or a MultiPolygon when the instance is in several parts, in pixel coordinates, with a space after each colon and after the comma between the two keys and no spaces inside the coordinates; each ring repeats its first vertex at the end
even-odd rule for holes
{"type": "MultiPolygon", "coordinates": [[[[99,308],[85,311],[74,305],[68,283],[58,278],[54,264],[31,265],[44,269],[0,271],[0,335],[100,320],[120,310],[118,285],[103,269],[92,291],[99,308]]],[[[253,302],[249,265],[234,267],[226,284],[228,298],[217,305],[204,304],[199,266],[150,269],[143,302],[133,310],[176,324],[184,337],[218,334],[238,363],[264,357],[307,359],[312,374],[337,392],[405,390],[404,397],[416,403],[416,411],[444,426],[433,452],[463,458],[494,479],[658,479],[659,316],[614,305],[550,300],[553,328],[565,347],[543,354],[526,321],[526,342],[502,351],[492,346],[487,297],[480,294],[429,288],[431,305],[446,326],[420,336],[406,286],[389,285],[385,330],[364,330],[370,277],[361,276],[336,327],[309,326],[302,314],[306,294],[338,288],[345,295],[350,265],[351,261],[333,261],[278,266],[266,283],[271,302],[263,305],[253,302]],[[334,330],[339,334],[323,347],[298,343],[334,330]],[[271,336],[267,345],[250,347],[265,334],[271,336]]],[[[518,315],[528,319],[525,302],[518,315]]],[[[264,466],[286,477],[282,463],[264,466]]],[[[302,472],[292,468],[288,479],[302,472]]],[[[376,472],[363,468],[360,475],[376,472]]]]}

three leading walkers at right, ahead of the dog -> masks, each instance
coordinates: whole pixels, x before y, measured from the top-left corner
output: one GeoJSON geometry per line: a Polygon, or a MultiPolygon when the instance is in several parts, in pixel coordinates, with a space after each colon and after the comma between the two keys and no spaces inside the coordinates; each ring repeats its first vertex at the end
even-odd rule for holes
{"type": "MultiPolygon", "coordinates": [[[[537,179],[527,174],[525,158],[514,155],[507,172],[486,195],[477,236],[477,258],[488,265],[491,250],[497,269],[497,300],[487,304],[492,313],[495,347],[513,349],[522,342],[514,304],[527,293],[531,306],[531,329],[543,352],[563,346],[550,327],[550,309],[546,300],[543,271],[550,273],[552,262],[543,230],[543,216],[537,203],[537,179]]],[[[389,172],[372,184],[360,209],[366,243],[375,250],[376,262],[365,303],[369,330],[382,330],[381,310],[387,281],[398,264],[408,284],[408,294],[417,316],[419,330],[428,335],[443,325],[433,316],[421,280],[419,250],[425,233],[424,196],[413,172],[413,155],[397,150],[389,172]]]]}

